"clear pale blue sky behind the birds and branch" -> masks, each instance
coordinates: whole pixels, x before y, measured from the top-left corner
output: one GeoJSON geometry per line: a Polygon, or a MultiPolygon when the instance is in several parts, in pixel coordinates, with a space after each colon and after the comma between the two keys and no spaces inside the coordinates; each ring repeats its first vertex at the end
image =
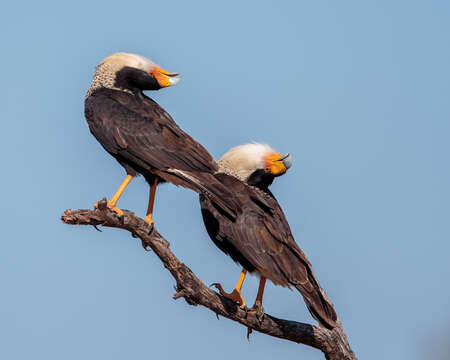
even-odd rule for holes
{"type": "MultiPolygon", "coordinates": [[[[129,233],[61,223],[124,177],[83,115],[117,51],[182,74],[149,95],[214,157],[292,153],[272,190],[360,359],[450,357],[450,2],[10,1],[0,33],[0,358],[323,358],[172,300],[129,233]]],[[[139,178],[119,206],[143,216],[147,196],[139,178]]],[[[155,211],[205,283],[234,286],[194,192],[165,185],[155,211]]],[[[288,289],[269,284],[264,306],[313,322],[288,289]]]]}

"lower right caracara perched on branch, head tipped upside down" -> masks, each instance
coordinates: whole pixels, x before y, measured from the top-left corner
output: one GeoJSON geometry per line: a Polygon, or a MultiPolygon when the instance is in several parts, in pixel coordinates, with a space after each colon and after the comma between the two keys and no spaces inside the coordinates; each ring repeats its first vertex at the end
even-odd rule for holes
{"type": "Polygon", "coordinates": [[[239,213],[236,219],[230,219],[214,200],[200,195],[202,217],[212,241],[239,263],[242,271],[231,293],[226,293],[220,283],[211,286],[246,311],[256,312],[259,320],[264,315],[266,279],[275,285],[294,287],[303,296],[312,316],[332,329],[337,321],[333,305],[322,293],[311,263],[295,242],[283,210],[269,190],[274,179],[291,167],[292,161],[290,154],[282,155],[262,143],[234,147],[217,161],[219,169],[215,177],[233,193],[239,213]],[[251,309],[241,294],[247,272],[260,276],[251,309]]]}

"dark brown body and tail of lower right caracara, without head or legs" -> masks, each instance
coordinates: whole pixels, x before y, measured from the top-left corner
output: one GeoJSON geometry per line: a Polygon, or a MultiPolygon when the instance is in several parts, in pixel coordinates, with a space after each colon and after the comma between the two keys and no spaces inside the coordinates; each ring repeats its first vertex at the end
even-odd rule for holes
{"type": "Polygon", "coordinates": [[[295,242],[276,199],[231,176],[216,177],[233,192],[242,213],[230,221],[213,202],[201,198],[205,225],[215,244],[247,270],[256,270],[275,284],[297,288],[314,318],[326,327],[334,327],[333,306],[322,294],[312,266],[295,242]]]}

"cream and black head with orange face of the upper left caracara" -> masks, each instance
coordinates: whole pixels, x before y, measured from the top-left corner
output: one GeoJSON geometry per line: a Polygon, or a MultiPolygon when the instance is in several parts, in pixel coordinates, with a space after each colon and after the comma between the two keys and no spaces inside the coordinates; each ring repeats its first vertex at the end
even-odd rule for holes
{"type": "Polygon", "coordinates": [[[180,80],[178,73],[170,73],[143,56],[116,53],[97,66],[93,85],[128,91],[159,90],[180,80]]]}

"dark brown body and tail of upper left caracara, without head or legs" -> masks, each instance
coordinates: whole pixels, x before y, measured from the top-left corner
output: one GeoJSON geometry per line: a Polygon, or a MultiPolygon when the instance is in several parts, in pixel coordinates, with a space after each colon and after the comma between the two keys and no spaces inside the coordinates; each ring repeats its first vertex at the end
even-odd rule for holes
{"type": "Polygon", "coordinates": [[[156,174],[213,199],[233,218],[232,194],[213,176],[209,152],[181,130],[167,112],[143,94],[97,90],[86,99],[89,128],[123,166],[156,174]]]}

